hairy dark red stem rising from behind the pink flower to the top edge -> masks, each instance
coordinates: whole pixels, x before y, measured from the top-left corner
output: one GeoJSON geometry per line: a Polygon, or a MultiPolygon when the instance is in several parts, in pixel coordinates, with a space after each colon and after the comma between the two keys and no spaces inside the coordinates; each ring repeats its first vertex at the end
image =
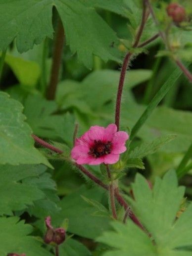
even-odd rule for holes
{"type": "MultiPolygon", "coordinates": [[[[142,21],[139,27],[139,30],[136,34],[135,42],[133,43],[133,48],[136,48],[139,44],[144,25],[146,22],[146,7],[145,4],[143,6],[143,14],[142,14],[142,21]]],[[[125,81],[125,75],[127,71],[127,67],[130,61],[132,53],[128,52],[123,60],[123,65],[121,69],[121,74],[119,78],[119,85],[118,85],[118,91],[117,91],[117,98],[116,98],[116,107],[115,107],[115,124],[117,126],[117,131],[119,131],[119,120],[120,120],[120,110],[121,110],[121,98],[122,98],[122,92],[123,92],[123,86],[125,81]]]]}

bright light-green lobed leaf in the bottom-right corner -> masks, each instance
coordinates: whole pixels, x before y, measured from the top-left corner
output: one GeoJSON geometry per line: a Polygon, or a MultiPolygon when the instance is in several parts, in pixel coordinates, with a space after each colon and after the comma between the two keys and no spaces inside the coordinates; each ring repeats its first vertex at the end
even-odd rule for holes
{"type": "Polygon", "coordinates": [[[131,220],[126,225],[113,222],[115,231],[104,232],[97,241],[118,251],[109,251],[104,256],[192,255],[192,251],[187,248],[192,247],[192,204],[176,220],[185,190],[184,187],[178,187],[176,173],[169,171],[163,179],[156,178],[152,190],[144,177],[137,174],[132,188],[135,201],[129,201],[151,237],[131,220]]]}

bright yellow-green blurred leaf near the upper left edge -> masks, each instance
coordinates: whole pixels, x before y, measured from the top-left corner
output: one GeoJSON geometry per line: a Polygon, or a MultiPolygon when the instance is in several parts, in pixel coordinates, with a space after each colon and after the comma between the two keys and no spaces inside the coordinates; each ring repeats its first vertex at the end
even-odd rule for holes
{"type": "Polygon", "coordinates": [[[6,54],[5,63],[10,66],[22,85],[26,87],[36,86],[41,74],[40,65],[37,62],[6,54]]]}

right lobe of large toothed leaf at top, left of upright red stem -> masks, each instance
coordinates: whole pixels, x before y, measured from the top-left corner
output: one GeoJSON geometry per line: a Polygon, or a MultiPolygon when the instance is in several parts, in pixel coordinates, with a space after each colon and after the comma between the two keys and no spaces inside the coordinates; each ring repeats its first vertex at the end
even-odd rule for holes
{"type": "Polygon", "coordinates": [[[55,4],[63,22],[67,44],[72,52],[77,51],[86,67],[93,66],[92,54],[104,61],[120,61],[120,54],[111,47],[113,42],[115,45],[118,43],[114,31],[93,8],[88,8],[79,0],[55,0],[55,4]]]}

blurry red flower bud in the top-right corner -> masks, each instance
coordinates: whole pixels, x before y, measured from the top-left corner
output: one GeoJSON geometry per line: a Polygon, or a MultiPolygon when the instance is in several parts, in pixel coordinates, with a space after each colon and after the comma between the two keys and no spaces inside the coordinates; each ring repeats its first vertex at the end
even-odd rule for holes
{"type": "Polygon", "coordinates": [[[175,2],[172,2],[167,6],[167,14],[175,23],[180,23],[186,19],[185,8],[175,2]]]}

